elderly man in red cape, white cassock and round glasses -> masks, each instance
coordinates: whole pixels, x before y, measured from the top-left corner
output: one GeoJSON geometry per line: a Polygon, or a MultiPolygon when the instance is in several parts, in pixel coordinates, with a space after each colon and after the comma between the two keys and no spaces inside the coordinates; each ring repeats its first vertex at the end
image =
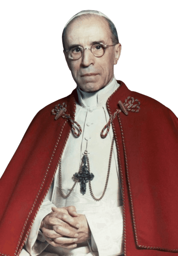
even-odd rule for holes
{"type": "Polygon", "coordinates": [[[178,253],[178,119],[115,79],[102,13],[74,15],[62,42],[77,87],[38,112],[2,177],[0,254],[178,253]]]}

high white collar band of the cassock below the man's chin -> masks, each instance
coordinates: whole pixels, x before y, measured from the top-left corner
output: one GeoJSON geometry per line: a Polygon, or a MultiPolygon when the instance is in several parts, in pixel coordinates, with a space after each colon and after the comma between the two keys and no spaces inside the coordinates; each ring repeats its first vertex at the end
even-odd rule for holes
{"type": "Polygon", "coordinates": [[[99,91],[85,92],[77,86],[78,103],[80,106],[103,106],[108,97],[120,86],[113,75],[113,79],[108,85],[99,91]]]}

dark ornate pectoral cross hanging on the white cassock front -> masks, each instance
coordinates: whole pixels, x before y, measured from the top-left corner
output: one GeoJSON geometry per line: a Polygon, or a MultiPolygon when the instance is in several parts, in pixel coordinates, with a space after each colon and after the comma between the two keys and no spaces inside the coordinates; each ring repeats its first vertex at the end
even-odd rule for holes
{"type": "Polygon", "coordinates": [[[73,174],[73,176],[76,181],[80,182],[80,192],[84,195],[86,193],[86,183],[94,178],[94,175],[88,171],[86,155],[82,157],[81,169],[82,171],[73,174]]]}

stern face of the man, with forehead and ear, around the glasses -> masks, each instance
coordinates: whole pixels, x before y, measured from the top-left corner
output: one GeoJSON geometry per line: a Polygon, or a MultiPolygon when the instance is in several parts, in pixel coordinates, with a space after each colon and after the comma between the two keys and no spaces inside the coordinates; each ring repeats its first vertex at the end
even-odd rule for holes
{"type": "MultiPolygon", "coordinates": [[[[73,21],[67,27],[64,39],[66,50],[72,45],[90,48],[93,42],[113,44],[107,21],[98,15],[73,21]]],[[[64,55],[79,88],[83,91],[98,91],[112,80],[120,52],[121,44],[117,44],[108,47],[102,57],[95,57],[89,49],[85,49],[82,57],[77,60],[69,59],[67,53],[64,55]]]]}

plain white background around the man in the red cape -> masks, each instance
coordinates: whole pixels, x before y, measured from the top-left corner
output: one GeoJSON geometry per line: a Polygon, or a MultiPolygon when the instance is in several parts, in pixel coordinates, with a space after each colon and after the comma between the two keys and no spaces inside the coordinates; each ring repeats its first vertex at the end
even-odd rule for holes
{"type": "Polygon", "coordinates": [[[0,176],[38,110],[76,87],[61,33],[84,9],[103,12],[117,27],[115,77],[178,116],[177,0],[0,0],[0,176]]]}

